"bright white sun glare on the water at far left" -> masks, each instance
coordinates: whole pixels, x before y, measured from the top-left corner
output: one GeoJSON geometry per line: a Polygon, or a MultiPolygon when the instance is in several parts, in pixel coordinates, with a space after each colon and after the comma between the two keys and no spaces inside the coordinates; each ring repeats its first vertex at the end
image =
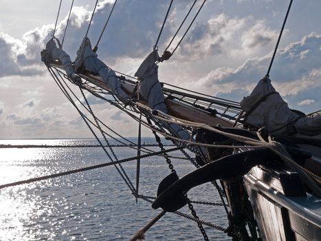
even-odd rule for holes
{"type": "MultiPolygon", "coordinates": [[[[16,144],[18,145],[18,144],[16,144]]],[[[49,160],[54,153],[45,148],[2,148],[0,149],[0,185],[27,180],[49,174],[37,160],[49,160]]],[[[37,220],[50,209],[39,207],[34,189],[47,184],[35,182],[27,185],[0,189],[0,240],[33,240],[37,234],[37,220]],[[32,232],[26,230],[34,230],[32,232]]],[[[47,234],[50,237],[51,234],[47,234]]]]}

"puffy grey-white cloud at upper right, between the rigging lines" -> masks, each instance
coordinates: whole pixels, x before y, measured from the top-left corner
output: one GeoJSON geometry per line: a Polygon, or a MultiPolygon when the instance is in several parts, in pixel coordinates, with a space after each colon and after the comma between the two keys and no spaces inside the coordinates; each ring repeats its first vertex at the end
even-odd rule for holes
{"type": "Polygon", "coordinates": [[[192,59],[223,53],[230,56],[251,55],[269,48],[276,34],[275,30],[267,28],[263,20],[230,18],[222,13],[195,24],[177,50],[182,57],[192,59]]]}

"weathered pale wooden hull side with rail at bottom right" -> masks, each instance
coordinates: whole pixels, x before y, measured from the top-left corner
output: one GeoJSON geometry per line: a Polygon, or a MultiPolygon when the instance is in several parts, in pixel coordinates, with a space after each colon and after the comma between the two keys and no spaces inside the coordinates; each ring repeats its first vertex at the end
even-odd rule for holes
{"type": "Polygon", "coordinates": [[[243,180],[263,240],[320,240],[321,200],[296,173],[254,167],[243,180]]]}

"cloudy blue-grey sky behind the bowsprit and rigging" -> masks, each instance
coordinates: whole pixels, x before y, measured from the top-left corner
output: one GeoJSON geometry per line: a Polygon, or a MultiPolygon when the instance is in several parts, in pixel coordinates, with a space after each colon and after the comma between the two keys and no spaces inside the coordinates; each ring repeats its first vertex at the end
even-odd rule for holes
{"type": "MultiPolygon", "coordinates": [[[[95,2],[74,0],[63,45],[71,59],[85,36],[95,2]]],[[[118,0],[98,47],[99,58],[114,70],[133,75],[155,45],[169,2],[118,0]]],[[[174,0],[159,39],[160,54],[192,2],[174,0]]],[[[60,0],[0,3],[0,138],[92,137],[40,58],[54,30],[60,0]]],[[[113,0],[98,1],[88,34],[93,45],[112,5],[113,0]]],[[[267,72],[288,5],[285,0],[206,1],[175,54],[159,64],[159,80],[241,101],[267,72]]],[[[62,1],[55,34],[60,40],[70,6],[71,0],[62,1]]],[[[319,0],[294,1],[269,74],[289,107],[305,113],[321,109],[320,9],[319,0]]],[[[87,97],[109,127],[124,136],[137,136],[135,121],[108,103],[87,97]]],[[[151,134],[144,129],[143,135],[151,134]]]]}

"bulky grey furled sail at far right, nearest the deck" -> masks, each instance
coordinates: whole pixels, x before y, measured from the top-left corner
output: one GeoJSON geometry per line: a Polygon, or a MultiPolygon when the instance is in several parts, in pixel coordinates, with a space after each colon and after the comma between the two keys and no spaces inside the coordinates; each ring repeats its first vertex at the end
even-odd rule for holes
{"type": "Polygon", "coordinates": [[[321,112],[299,118],[276,92],[269,78],[258,82],[250,96],[243,98],[241,107],[248,113],[247,124],[266,127],[274,135],[321,134],[321,112]]]}

